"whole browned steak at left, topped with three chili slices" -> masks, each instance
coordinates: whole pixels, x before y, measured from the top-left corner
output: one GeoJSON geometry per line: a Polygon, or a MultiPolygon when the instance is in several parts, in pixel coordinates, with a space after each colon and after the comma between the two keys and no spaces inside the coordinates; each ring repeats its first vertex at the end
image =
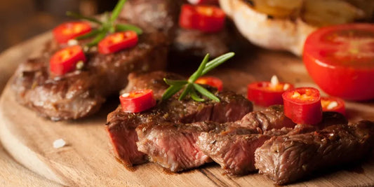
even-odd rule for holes
{"type": "Polygon", "coordinates": [[[137,46],[118,53],[89,53],[86,67],[63,76],[49,73],[50,55],[20,64],[13,90],[21,104],[52,120],[76,119],[100,109],[105,97],[127,84],[131,71],[163,69],[168,46],[161,33],[142,34],[137,46]]]}

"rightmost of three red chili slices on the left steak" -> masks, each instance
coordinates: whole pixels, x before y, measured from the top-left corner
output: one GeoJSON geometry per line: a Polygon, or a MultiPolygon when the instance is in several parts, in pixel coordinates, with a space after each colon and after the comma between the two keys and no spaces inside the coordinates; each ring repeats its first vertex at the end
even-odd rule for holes
{"type": "Polygon", "coordinates": [[[119,50],[132,48],[138,43],[138,34],[133,31],[110,34],[98,43],[99,53],[116,53],[119,50]]]}

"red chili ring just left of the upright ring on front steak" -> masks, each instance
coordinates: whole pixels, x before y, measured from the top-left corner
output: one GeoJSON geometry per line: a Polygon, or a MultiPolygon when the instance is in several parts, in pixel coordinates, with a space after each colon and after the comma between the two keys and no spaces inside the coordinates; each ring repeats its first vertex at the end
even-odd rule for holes
{"type": "Polygon", "coordinates": [[[260,106],[283,104],[282,94],[290,89],[293,89],[293,85],[289,83],[273,85],[269,81],[254,82],[248,84],[247,98],[260,106]]]}

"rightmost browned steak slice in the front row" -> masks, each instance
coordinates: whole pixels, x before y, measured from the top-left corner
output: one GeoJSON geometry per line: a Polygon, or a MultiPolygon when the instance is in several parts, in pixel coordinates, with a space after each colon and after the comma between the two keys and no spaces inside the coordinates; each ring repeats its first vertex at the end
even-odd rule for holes
{"type": "Polygon", "coordinates": [[[373,148],[374,123],[330,125],[306,134],[272,137],[255,151],[255,167],[277,184],[317,169],[354,162],[373,148]]]}

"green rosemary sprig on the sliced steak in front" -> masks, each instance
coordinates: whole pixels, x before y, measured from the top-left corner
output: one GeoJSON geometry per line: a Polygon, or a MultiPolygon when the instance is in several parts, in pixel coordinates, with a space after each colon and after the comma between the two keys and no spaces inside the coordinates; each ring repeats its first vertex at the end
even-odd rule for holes
{"type": "Polygon", "coordinates": [[[216,97],[213,93],[206,90],[206,88],[203,88],[201,85],[195,83],[197,78],[200,76],[203,76],[204,74],[208,73],[208,71],[211,71],[215,67],[218,67],[223,62],[226,62],[231,57],[233,57],[235,53],[226,53],[225,55],[221,55],[220,57],[216,57],[215,59],[208,62],[209,54],[207,54],[203,61],[201,62],[199,68],[189,76],[189,78],[186,80],[170,80],[167,78],[163,78],[163,81],[165,81],[166,84],[170,85],[168,89],[163,93],[162,99],[166,100],[175,95],[175,93],[179,92],[184,88],[182,93],[179,96],[179,100],[184,99],[187,95],[190,95],[192,99],[196,102],[203,102],[205,99],[201,98],[199,95],[197,95],[197,92],[199,92],[201,95],[208,97],[209,99],[212,99],[215,102],[220,102],[220,99],[216,97]]]}

